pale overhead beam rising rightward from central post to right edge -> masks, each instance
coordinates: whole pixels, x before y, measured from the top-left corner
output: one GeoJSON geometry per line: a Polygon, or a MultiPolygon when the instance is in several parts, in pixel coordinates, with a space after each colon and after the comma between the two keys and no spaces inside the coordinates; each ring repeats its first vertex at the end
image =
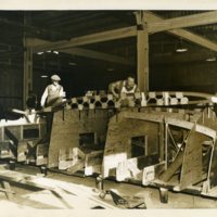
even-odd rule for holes
{"type": "Polygon", "coordinates": [[[186,28],[192,26],[202,26],[207,24],[217,23],[217,11],[199,13],[188,16],[180,16],[175,18],[168,18],[158,21],[155,23],[149,23],[149,33],[159,33],[165,30],[171,30],[177,28],[186,28]]]}

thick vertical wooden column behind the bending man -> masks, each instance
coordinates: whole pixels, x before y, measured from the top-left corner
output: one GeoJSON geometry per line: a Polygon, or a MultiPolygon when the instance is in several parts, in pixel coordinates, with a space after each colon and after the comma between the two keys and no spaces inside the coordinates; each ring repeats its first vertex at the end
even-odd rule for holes
{"type": "Polygon", "coordinates": [[[149,33],[144,11],[136,12],[137,18],[137,79],[141,91],[149,91],[149,33]]]}

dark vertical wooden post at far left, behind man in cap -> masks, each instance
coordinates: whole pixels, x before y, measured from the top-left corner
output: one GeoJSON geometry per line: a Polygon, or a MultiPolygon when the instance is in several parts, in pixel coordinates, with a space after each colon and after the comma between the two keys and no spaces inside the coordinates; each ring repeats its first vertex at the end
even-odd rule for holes
{"type": "MultiPolygon", "coordinates": [[[[29,22],[27,16],[24,16],[24,27],[29,22]]],[[[24,29],[24,76],[23,76],[23,108],[26,108],[26,100],[29,90],[33,90],[33,48],[26,44],[26,33],[24,29]]]]}

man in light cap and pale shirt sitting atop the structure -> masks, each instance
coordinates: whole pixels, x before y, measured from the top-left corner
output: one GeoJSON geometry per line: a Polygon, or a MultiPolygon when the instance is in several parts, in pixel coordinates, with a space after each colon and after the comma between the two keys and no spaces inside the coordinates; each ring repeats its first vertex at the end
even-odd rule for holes
{"type": "Polygon", "coordinates": [[[65,97],[63,87],[59,84],[61,78],[58,75],[52,75],[51,80],[52,80],[52,84],[46,88],[46,90],[41,97],[41,106],[42,107],[44,105],[51,106],[51,105],[59,104],[63,101],[63,98],[65,97]]]}

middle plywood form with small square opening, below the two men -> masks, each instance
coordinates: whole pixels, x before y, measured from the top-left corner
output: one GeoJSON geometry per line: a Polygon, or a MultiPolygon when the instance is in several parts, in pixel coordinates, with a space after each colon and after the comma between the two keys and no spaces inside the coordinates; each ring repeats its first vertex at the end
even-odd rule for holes
{"type": "Polygon", "coordinates": [[[67,161],[65,169],[69,166],[72,173],[85,167],[86,155],[104,148],[108,118],[107,110],[65,110],[64,114],[62,111],[56,112],[53,116],[48,166],[58,167],[59,161],[62,161],[62,167],[64,161],[67,161]],[[60,150],[63,150],[61,155],[60,150]],[[73,170],[73,167],[78,166],[78,158],[80,166],[73,170]]]}

